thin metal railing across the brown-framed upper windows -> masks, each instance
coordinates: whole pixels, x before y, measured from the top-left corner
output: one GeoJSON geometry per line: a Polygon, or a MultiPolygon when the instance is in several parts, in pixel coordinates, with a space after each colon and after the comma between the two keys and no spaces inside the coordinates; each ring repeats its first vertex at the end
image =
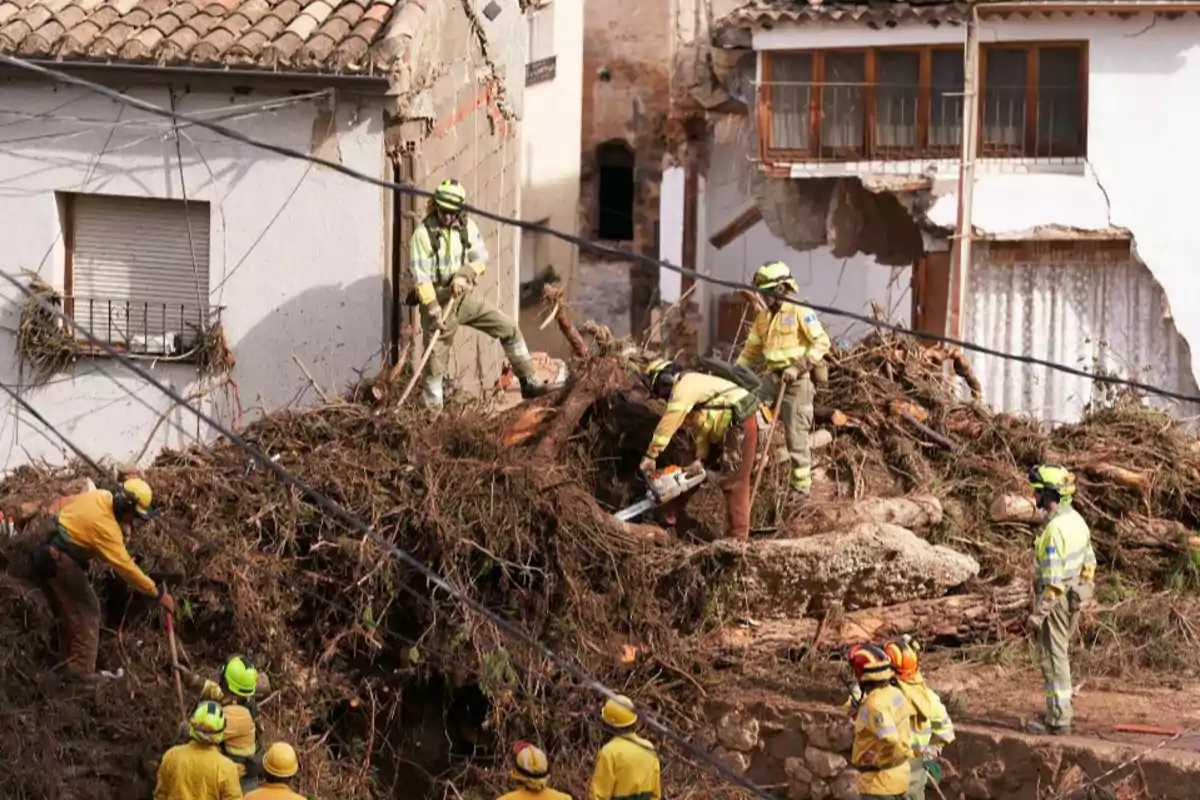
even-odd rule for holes
{"type": "MultiPolygon", "coordinates": [[[[766,161],[956,158],[962,149],[961,86],[770,83],[760,103],[766,161]]],[[[980,116],[982,156],[1084,155],[1078,86],[989,88],[980,116]]]]}

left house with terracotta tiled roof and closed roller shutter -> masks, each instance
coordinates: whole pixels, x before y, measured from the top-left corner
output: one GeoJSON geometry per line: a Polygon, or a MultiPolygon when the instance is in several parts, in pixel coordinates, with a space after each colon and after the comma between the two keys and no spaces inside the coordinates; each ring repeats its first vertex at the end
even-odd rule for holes
{"type": "MultiPolygon", "coordinates": [[[[523,5],[5,2],[0,52],[371,179],[457,178],[472,204],[520,216],[523,5]]],[[[239,426],[420,353],[404,295],[424,199],[16,67],[2,77],[2,269],[36,275],[190,402],[239,426]]],[[[478,291],[515,315],[518,229],[479,223],[491,258],[478,291]]],[[[0,381],[89,452],[139,461],[209,435],[79,331],[38,327],[22,293],[4,296],[0,381]]],[[[450,377],[490,387],[502,362],[463,331],[450,377]]],[[[67,458],[4,404],[5,467],[67,458]]]]}

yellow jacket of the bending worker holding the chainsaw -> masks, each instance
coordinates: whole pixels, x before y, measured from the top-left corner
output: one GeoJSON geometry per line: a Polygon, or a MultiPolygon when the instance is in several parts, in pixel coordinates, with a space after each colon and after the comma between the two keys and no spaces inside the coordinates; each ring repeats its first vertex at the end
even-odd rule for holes
{"type": "Polygon", "coordinates": [[[658,458],[671,444],[671,437],[686,427],[696,438],[696,456],[703,458],[710,445],[725,438],[736,417],[745,419],[757,408],[757,398],[737,384],[702,372],[686,372],[671,390],[666,414],[654,428],[646,457],[658,458]]]}

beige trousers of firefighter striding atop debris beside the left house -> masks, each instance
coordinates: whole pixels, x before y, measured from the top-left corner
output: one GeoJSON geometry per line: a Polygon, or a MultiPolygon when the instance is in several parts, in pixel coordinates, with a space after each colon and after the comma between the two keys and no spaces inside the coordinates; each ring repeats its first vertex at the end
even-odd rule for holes
{"type": "MultiPolygon", "coordinates": [[[[433,343],[433,355],[425,363],[422,399],[426,408],[440,409],[444,403],[444,380],[450,361],[450,349],[454,347],[455,333],[462,325],[499,339],[504,347],[504,355],[512,365],[512,372],[517,378],[534,377],[536,369],[529,357],[529,348],[526,347],[521,329],[517,327],[512,318],[475,293],[463,295],[457,305],[451,306],[455,300],[450,295],[450,289],[438,289],[438,302],[442,308],[454,308],[454,311],[446,320],[445,332],[433,343]]],[[[426,306],[421,306],[421,330],[425,332],[426,342],[433,337],[433,331],[437,330],[433,326],[433,317],[426,306]]]]}

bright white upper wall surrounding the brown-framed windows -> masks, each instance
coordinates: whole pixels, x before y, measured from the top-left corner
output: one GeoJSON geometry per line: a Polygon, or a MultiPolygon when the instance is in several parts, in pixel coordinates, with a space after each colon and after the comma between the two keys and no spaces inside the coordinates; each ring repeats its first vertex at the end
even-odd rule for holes
{"type": "MultiPolygon", "coordinates": [[[[1138,255],[1163,287],[1175,312],[1175,325],[1192,345],[1193,377],[1200,374],[1200,315],[1186,313],[1200,295],[1195,269],[1200,243],[1192,211],[1200,181],[1200,151],[1194,143],[1200,110],[1187,98],[1200,88],[1200,19],[1194,14],[1168,20],[1151,14],[1128,19],[1112,17],[1057,17],[1036,20],[983,22],[982,38],[1004,41],[1088,42],[1087,158],[1079,169],[1080,187],[1044,191],[1044,181],[1028,182],[1020,192],[1020,213],[1009,225],[1072,224],[1080,209],[1069,197],[1106,194],[1109,224],[1133,233],[1138,255]]],[[[839,24],[780,25],[755,34],[756,49],[805,49],[898,44],[959,43],[962,28],[905,24],[871,30],[839,24]]],[[[1032,176],[1031,176],[1032,178],[1032,176]]],[[[977,188],[978,192],[978,188],[977,188]]],[[[994,227],[1004,227],[1003,215],[988,212],[990,194],[1007,197],[1012,186],[985,190],[982,207],[994,227]]],[[[1088,227],[1098,224],[1092,209],[1088,227]]],[[[989,233],[1006,233],[990,230],[989,233]]]]}

